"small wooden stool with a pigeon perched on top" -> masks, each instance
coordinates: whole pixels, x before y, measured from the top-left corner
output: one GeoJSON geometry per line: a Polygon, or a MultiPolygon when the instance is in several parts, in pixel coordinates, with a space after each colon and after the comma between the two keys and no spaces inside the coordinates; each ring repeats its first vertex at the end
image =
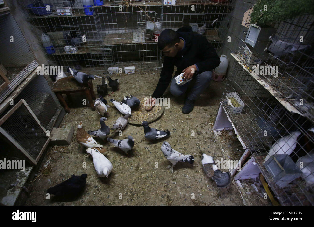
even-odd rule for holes
{"type": "MultiPolygon", "coordinates": [[[[86,85],[85,85],[86,86],[86,85]]],[[[91,80],[88,82],[87,87],[82,87],[81,84],[79,84],[73,76],[69,76],[66,78],[59,79],[56,83],[52,85],[52,90],[56,94],[57,98],[59,99],[61,105],[64,107],[64,110],[67,113],[70,113],[70,109],[68,107],[68,104],[63,98],[63,94],[66,94],[68,97],[68,100],[72,102],[71,93],[76,92],[84,92],[87,100],[89,102],[89,106],[92,109],[92,111],[95,111],[95,106],[93,100],[96,99],[95,93],[94,93],[94,87],[91,80]]]]}

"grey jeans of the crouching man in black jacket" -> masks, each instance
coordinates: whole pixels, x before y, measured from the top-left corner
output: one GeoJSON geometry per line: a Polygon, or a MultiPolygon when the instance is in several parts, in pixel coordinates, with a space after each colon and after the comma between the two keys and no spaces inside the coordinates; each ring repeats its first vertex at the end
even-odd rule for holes
{"type": "MultiPolygon", "coordinates": [[[[176,83],[175,77],[176,76],[174,76],[171,81],[170,93],[173,96],[181,96],[187,91],[187,88],[192,80],[190,82],[187,82],[186,84],[179,86],[176,83]]],[[[212,72],[205,71],[203,73],[197,74],[195,79],[195,84],[193,85],[190,94],[187,96],[189,100],[197,100],[198,97],[203,93],[203,91],[208,87],[209,82],[212,80],[212,72]]]]}

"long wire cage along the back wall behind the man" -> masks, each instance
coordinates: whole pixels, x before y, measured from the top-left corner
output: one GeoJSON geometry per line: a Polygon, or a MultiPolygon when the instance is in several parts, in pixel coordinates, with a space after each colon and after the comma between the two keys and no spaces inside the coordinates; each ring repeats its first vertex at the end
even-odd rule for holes
{"type": "Polygon", "coordinates": [[[225,30],[220,24],[231,8],[228,1],[179,0],[175,5],[163,5],[162,1],[104,1],[102,5],[95,5],[93,1],[67,2],[47,1],[49,12],[44,8],[32,8],[36,4],[34,0],[24,0],[21,4],[31,23],[42,31],[36,34],[38,39],[41,40],[42,33],[48,36],[53,51],[45,51],[52,62],[64,67],[79,64],[94,70],[123,67],[126,62],[127,66],[131,64],[144,70],[160,68],[163,55],[154,40],[154,27],[150,32],[146,30],[147,21],[156,23],[158,20],[157,36],[162,29],[176,30],[198,24],[199,30],[195,32],[206,36],[218,50],[225,30]],[[60,8],[68,10],[60,14],[60,8]],[[86,42],[82,40],[84,34],[86,42]],[[73,46],[72,39],[79,45],[73,46]],[[70,46],[68,51],[65,46],[70,46]]]}

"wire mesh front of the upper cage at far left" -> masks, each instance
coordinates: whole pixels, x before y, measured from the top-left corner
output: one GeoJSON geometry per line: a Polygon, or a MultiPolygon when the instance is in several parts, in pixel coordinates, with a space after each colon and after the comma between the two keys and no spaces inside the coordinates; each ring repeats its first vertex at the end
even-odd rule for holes
{"type": "Polygon", "coordinates": [[[9,13],[0,14],[0,62],[8,74],[10,84],[0,92],[0,102],[10,94],[22,80],[38,66],[33,51],[30,49],[18,24],[9,13]]]}

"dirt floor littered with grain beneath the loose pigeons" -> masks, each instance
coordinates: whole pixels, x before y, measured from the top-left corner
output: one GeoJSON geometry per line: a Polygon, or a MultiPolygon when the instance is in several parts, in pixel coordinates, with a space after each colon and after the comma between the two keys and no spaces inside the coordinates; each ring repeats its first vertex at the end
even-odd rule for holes
{"type": "MultiPolygon", "coordinates": [[[[119,79],[120,91],[115,92],[110,98],[122,100],[123,95],[127,95],[125,92],[135,96],[151,95],[158,82],[159,73],[156,71],[146,73],[112,75],[113,79],[119,79]],[[155,74],[151,75],[151,73],[155,74]]],[[[101,84],[101,78],[96,78],[93,84],[97,96],[96,84],[101,84]]],[[[97,111],[93,112],[82,105],[84,95],[73,95],[75,103],[69,104],[71,113],[64,116],[60,125],[69,129],[74,125],[72,142],[65,147],[47,148],[41,164],[44,175],[34,177],[33,189],[25,205],[243,205],[242,196],[234,181],[227,189],[217,188],[215,182],[204,175],[201,164],[202,153],[209,154],[214,159],[222,157],[211,128],[224,85],[224,82],[212,81],[206,92],[196,101],[194,110],[187,115],[181,112],[184,99],[173,97],[168,88],[164,96],[170,97],[171,106],[165,109],[157,121],[150,124],[153,128],[170,130],[171,135],[165,140],[173,149],[183,154],[192,154],[195,158],[193,165],[177,163],[173,173],[169,172],[166,166],[170,162],[165,159],[160,150],[164,140],[140,142],[145,139],[143,127],[128,124],[123,130],[122,137],[116,134],[113,138],[121,139],[131,135],[136,144],[130,155],[115,148],[109,142],[96,138],[107,149],[105,156],[113,165],[108,179],[98,177],[92,158],[84,157],[86,148],[78,144],[75,139],[80,121],[83,122],[85,131],[95,130],[100,127],[100,115],[97,111]],[[194,137],[191,136],[192,130],[195,131],[194,137]],[[51,160],[48,164],[46,161],[49,159],[51,160]],[[83,168],[83,162],[86,162],[86,168],[83,168]],[[158,168],[155,167],[156,162],[158,168]],[[47,167],[44,167],[44,164],[47,164],[47,167]],[[86,186],[83,194],[76,201],[46,199],[46,190],[49,187],[70,178],[72,174],[83,173],[88,174],[86,186]],[[119,199],[120,193],[122,199],[119,199]],[[192,195],[195,195],[193,200],[192,195]]],[[[120,113],[109,102],[110,98],[105,97],[108,105],[111,106],[108,108],[109,117],[106,124],[111,127],[120,113]]],[[[254,190],[248,193],[252,196],[251,204],[265,205],[265,201],[254,193],[254,190]]]]}

